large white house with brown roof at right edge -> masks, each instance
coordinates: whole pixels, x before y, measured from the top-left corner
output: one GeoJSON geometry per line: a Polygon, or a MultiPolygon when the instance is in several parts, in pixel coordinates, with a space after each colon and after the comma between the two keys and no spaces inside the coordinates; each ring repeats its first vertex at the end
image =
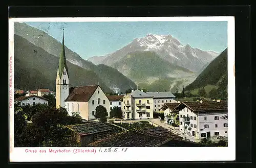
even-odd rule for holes
{"type": "Polygon", "coordinates": [[[196,139],[228,135],[227,101],[182,102],[179,111],[180,131],[196,139]]]}

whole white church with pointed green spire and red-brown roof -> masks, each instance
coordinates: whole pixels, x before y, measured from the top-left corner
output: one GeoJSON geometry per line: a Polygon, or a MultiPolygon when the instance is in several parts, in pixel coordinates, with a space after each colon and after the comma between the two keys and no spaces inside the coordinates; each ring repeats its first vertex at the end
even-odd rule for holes
{"type": "Polygon", "coordinates": [[[99,85],[70,87],[63,32],[56,77],[56,107],[66,108],[69,115],[78,112],[82,119],[89,121],[95,119],[96,107],[99,105],[106,108],[109,116],[110,101],[99,85]]]}

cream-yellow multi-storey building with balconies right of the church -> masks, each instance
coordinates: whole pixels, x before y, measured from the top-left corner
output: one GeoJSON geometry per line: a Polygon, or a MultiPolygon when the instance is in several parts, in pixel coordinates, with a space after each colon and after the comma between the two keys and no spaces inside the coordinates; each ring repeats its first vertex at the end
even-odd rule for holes
{"type": "Polygon", "coordinates": [[[125,119],[152,119],[153,96],[143,90],[133,90],[123,97],[122,111],[125,119]]]}

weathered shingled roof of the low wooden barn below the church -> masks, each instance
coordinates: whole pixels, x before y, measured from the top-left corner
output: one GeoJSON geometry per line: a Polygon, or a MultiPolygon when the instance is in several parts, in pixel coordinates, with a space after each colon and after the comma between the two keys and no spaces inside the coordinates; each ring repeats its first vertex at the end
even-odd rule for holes
{"type": "Polygon", "coordinates": [[[71,125],[67,126],[67,128],[74,131],[78,135],[90,135],[114,130],[112,127],[101,122],[90,122],[86,124],[71,125]]]}

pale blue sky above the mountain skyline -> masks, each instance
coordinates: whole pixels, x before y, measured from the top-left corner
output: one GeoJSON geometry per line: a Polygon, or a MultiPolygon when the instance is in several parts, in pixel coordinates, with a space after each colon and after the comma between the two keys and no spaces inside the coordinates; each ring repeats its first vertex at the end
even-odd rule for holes
{"type": "Polygon", "coordinates": [[[221,53],[227,47],[227,21],[26,22],[62,41],[83,59],[113,53],[147,34],[172,35],[182,45],[221,53]]]}

